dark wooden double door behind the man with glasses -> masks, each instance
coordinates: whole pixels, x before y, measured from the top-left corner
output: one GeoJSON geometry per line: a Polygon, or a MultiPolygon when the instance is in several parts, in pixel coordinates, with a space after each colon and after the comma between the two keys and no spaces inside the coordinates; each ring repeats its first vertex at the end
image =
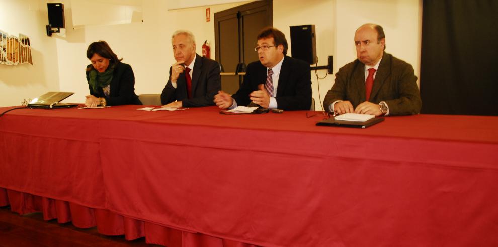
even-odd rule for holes
{"type": "Polygon", "coordinates": [[[242,78],[235,75],[237,64],[257,61],[256,36],[264,27],[273,26],[272,0],[256,1],[214,13],[216,61],[225,73],[221,89],[235,93],[242,78]],[[228,75],[228,73],[231,73],[228,75]]]}

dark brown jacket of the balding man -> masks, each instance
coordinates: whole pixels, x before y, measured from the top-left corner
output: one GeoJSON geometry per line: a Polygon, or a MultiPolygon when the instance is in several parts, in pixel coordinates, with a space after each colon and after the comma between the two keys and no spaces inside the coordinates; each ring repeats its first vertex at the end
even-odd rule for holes
{"type": "MultiPolygon", "coordinates": [[[[353,108],[366,101],[365,65],[358,59],[336,73],[335,83],[323,101],[324,109],[329,111],[328,106],[336,100],[349,100],[353,108]]],[[[389,115],[419,113],[422,100],[413,67],[384,52],[368,101],[375,104],[385,101],[389,115]]]]}

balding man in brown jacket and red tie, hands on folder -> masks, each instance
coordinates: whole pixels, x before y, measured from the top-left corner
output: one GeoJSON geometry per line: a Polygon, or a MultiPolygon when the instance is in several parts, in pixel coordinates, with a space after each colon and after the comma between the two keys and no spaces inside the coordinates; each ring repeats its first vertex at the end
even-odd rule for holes
{"type": "Polygon", "coordinates": [[[325,110],[381,115],[419,113],[422,100],[413,67],[385,53],[381,26],[364,24],[356,30],[357,60],[336,73],[323,101],[325,110]]]}

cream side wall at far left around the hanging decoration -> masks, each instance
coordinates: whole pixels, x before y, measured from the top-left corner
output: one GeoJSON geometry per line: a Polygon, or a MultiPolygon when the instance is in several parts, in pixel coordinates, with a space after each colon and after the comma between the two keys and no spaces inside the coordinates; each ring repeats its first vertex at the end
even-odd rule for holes
{"type": "Polygon", "coordinates": [[[0,0],[0,30],[28,36],[34,64],[0,65],[0,106],[21,105],[23,99],[59,90],[57,47],[46,35],[46,24],[45,2],[0,0]]]}

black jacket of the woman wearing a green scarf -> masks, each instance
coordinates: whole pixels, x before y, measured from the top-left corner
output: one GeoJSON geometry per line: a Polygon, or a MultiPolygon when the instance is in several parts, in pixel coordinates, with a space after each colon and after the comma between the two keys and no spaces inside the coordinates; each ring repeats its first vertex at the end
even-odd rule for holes
{"type": "MultiPolygon", "coordinates": [[[[92,64],[88,65],[87,69],[88,68],[93,69],[92,64]]],[[[87,82],[90,80],[89,74],[90,71],[87,71],[87,82]]],[[[118,62],[116,68],[114,68],[109,97],[104,95],[102,88],[98,88],[97,92],[94,92],[89,85],[89,89],[91,95],[95,97],[104,97],[108,106],[142,104],[135,94],[135,75],[133,74],[131,66],[126,63],[118,62]]]]}

